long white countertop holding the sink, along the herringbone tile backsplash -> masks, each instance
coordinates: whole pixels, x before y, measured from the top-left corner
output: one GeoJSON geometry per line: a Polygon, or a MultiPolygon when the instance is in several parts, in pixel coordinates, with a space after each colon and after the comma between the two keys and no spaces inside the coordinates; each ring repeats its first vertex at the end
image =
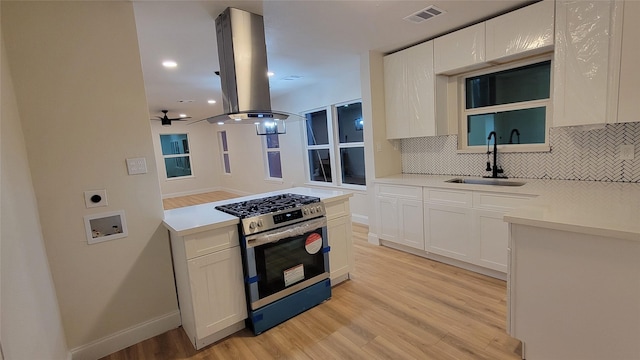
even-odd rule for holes
{"type": "Polygon", "coordinates": [[[640,184],[596,181],[508,179],[519,187],[447,183],[454,175],[399,174],[376,183],[537,196],[504,220],[555,230],[640,241],[640,184]]]}

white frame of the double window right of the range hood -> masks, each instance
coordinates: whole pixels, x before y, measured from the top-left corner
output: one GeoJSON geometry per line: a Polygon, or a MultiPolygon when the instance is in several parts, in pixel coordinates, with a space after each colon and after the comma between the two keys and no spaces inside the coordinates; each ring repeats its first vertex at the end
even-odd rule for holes
{"type": "MultiPolygon", "coordinates": [[[[343,148],[357,148],[357,147],[362,147],[363,151],[365,149],[364,129],[362,130],[363,131],[362,142],[349,142],[349,143],[340,142],[340,137],[339,137],[340,128],[338,126],[338,107],[348,105],[348,104],[353,104],[353,103],[362,104],[362,99],[343,101],[343,102],[335,103],[328,106],[314,108],[308,111],[304,111],[302,113],[302,117],[305,118],[304,125],[302,126],[302,132],[304,133],[303,135],[304,135],[304,149],[305,149],[305,152],[304,152],[305,179],[309,185],[340,187],[340,188],[345,188],[350,190],[366,191],[367,185],[348,184],[348,183],[343,183],[342,181],[342,163],[339,159],[340,150],[343,148]],[[323,111],[323,110],[326,111],[327,113],[327,132],[329,134],[328,144],[309,145],[306,114],[323,111]],[[329,150],[329,157],[330,157],[329,164],[331,166],[330,182],[311,180],[311,177],[310,177],[311,169],[309,164],[310,150],[329,150]]],[[[364,151],[364,153],[366,158],[366,151],[364,151]]],[[[365,182],[366,182],[366,176],[365,176],[365,182]]]]}

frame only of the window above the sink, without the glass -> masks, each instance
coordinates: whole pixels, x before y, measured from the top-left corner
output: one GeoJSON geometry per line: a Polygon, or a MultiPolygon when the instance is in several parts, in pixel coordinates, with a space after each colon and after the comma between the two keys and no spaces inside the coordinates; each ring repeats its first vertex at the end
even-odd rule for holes
{"type": "Polygon", "coordinates": [[[468,145],[468,124],[467,116],[505,112],[513,110],[531,109],[535,107],[545,107],[545,138],[544,143],[540,144],[498,144],[498,150],[500,152],[549,152],[551,146],[549,144],[549,129],[553,122],[553,56],[552,54],[545,54],[541,56],[535,56],[524,60],[516,60],[505,64],[496,66],[490,66],[481,70],[463,73],[457,76],[458,82],[458,153],[486,153],[487,145],[468,145]],[[532,65],[540,62],[551,61],[550,64],[550,78],[549,78],[549,98],[539,100],[529,100],[517,103],[501,104],[485,106],[480,108],[466,108],[466,79],[470,77],[476,77],[486,74],[497,73],[504,70],[515,69],[527,65],[532,65]]]}

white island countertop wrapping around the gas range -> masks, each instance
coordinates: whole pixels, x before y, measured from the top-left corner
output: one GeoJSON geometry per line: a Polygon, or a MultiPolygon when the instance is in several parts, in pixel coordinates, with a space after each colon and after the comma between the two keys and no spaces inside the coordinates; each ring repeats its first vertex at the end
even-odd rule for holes
{"type": "Polygon", "coordinates": [[[240,222],[237,217],[229,215],[222,211],[218,211],[215,209],[215,207],[219,205],[259,199],[267,196],[285,193],[315,196],[319,197],[323,202],[346,200],[349,197],[353,196],[353,194],[349,191],[296,187],[216,201],[201,205],[193,205],[177,209],[165,210],[164,220],[162,223],[167,229],[175,231],[178,236],[185,236],[197,232],[217,229],[228,225],[234,225],[240,222]]]}

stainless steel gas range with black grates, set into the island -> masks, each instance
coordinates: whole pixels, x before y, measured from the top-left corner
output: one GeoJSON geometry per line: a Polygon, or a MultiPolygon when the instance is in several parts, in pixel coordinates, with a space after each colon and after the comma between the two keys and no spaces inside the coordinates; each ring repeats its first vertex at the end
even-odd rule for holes
{"type": "Polygon", "coordinates": [[[240,218],[240,246],[255,334],[331,297],[324,204],[281,194],[216,207],[240,218]]]}

